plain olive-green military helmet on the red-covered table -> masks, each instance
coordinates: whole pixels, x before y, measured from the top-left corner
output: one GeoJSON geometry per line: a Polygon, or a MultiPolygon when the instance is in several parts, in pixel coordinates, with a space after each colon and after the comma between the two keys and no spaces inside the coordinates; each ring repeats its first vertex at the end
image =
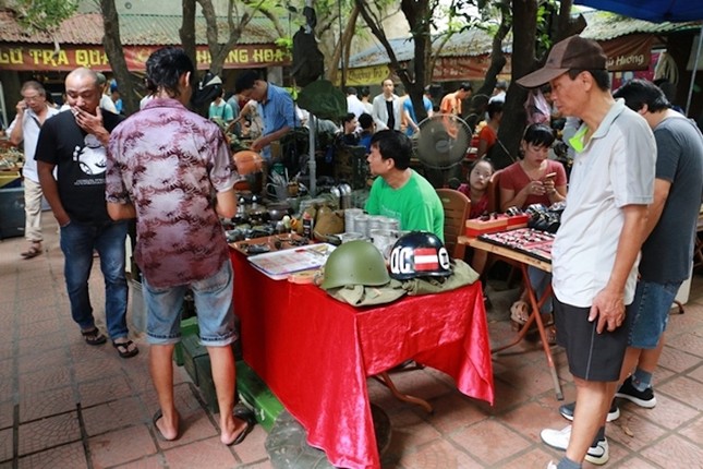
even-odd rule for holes
{"type": "Polygon", "coordinates": [[[368,241],[349,241],[337,248],[325,263],[325,290],[348,285],[378,286],[390,281],[386,261],[368,241]]]}

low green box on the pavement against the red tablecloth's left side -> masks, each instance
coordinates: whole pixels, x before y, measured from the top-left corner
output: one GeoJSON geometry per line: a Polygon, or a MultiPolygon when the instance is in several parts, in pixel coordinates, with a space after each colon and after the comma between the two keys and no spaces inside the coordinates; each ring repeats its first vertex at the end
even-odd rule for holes
{"type": "Polygon", "coordinates": [[[284,410],[283,405],[243,360],[237,362],[237,393],[246,406],[254,409],[256,421],[269,432],[284,410]]]}

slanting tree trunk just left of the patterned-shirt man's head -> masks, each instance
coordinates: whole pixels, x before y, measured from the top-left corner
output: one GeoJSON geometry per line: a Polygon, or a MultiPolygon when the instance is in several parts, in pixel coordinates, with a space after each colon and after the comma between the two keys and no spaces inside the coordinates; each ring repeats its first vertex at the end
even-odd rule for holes
{"type": "Polygon", "coordinates": [[[136,89],[143,89],[143,85],[130,74],[126,68],[122,41],[120,39],[120,22],[118,20],[117,9],[114,8],[114,0],[100,0],[100,10],[102,12],[102,25],[105,28],[105,36],[102,36],[105,53],[108,56],[112,73],[119,84],[124,113],[129,116],[140,110],[138,96],[134,92],[136,89]]]}

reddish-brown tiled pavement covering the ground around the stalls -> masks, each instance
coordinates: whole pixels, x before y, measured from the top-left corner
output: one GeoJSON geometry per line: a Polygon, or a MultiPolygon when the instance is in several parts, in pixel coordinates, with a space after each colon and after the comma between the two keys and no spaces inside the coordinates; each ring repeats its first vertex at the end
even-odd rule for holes
{"type": "MultiPolygon", "coordinates": [[[[177,369],[183,432],[178,442],[156,438],[157,408],[148,375],[148,346],[122,360],[108,344],[86,346],[70,317],[63,257],[56,224],[44,214],[46,252],[24,261],[20,238],[0,241],[0,469],[5,468],[269,468],[257,426],[239,446],[219,443],[218,416],[177,369]]],[[[97,260],[96,260],[97,261],[97,260]]],[[[104,328],[101,279],[92,279],[93,303],[104,328]]],[[[494,301],[494,344],[511,335],[505,304],[494,301]]],[[[537,344],[523,342],[494,357],[492,408],[453,389],[432,370],[396,375],[401,389],[429,399],[433,414],[395,400],[371,380],[372,401],[392,424],[385,468],[544,468],[559,452],[540,442],[540,430],[561,428],[552,378],[537,344]]],[[[565,354],[555,349],[567,400],[574,389],[565,354]]],[[[695,276],[683,315],[672,315],[668,345],[655,374],[656,408],[622,406],[608,424],[606,467],[703,468],[703,277],[695,276]]],[[[590,467],[586,464],[586,467],[590,467]]]]}

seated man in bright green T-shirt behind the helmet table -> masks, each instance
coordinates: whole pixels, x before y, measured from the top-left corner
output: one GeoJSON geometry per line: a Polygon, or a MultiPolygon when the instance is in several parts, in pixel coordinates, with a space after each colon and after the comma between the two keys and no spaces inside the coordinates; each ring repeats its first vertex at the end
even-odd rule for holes
{"type": "Polygon", "coordinates": [[[431,231],[445,240],[445,211],[429,182],[410,168],[412,143],[407,135],[384,130],[371,140],[366,158],[371,173],[378,176],[364,207],[369,215],[400,220],[400,229],[431,231]]]}

